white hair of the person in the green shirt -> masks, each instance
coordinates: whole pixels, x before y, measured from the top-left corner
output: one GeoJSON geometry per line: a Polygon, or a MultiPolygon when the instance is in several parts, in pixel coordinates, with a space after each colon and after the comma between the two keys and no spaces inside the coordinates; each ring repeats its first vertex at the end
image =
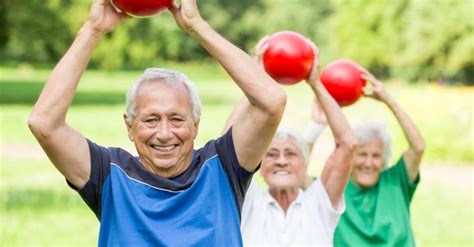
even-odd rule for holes
{"type": "Polygon", "coordinates": [[[374,140],[383,143],[383,167],[387,168],[392,158],[392,138],[386,125],[375,121],[362,122],[354,128],[354,132],[357,136],[358,145],[374,140]]]}

